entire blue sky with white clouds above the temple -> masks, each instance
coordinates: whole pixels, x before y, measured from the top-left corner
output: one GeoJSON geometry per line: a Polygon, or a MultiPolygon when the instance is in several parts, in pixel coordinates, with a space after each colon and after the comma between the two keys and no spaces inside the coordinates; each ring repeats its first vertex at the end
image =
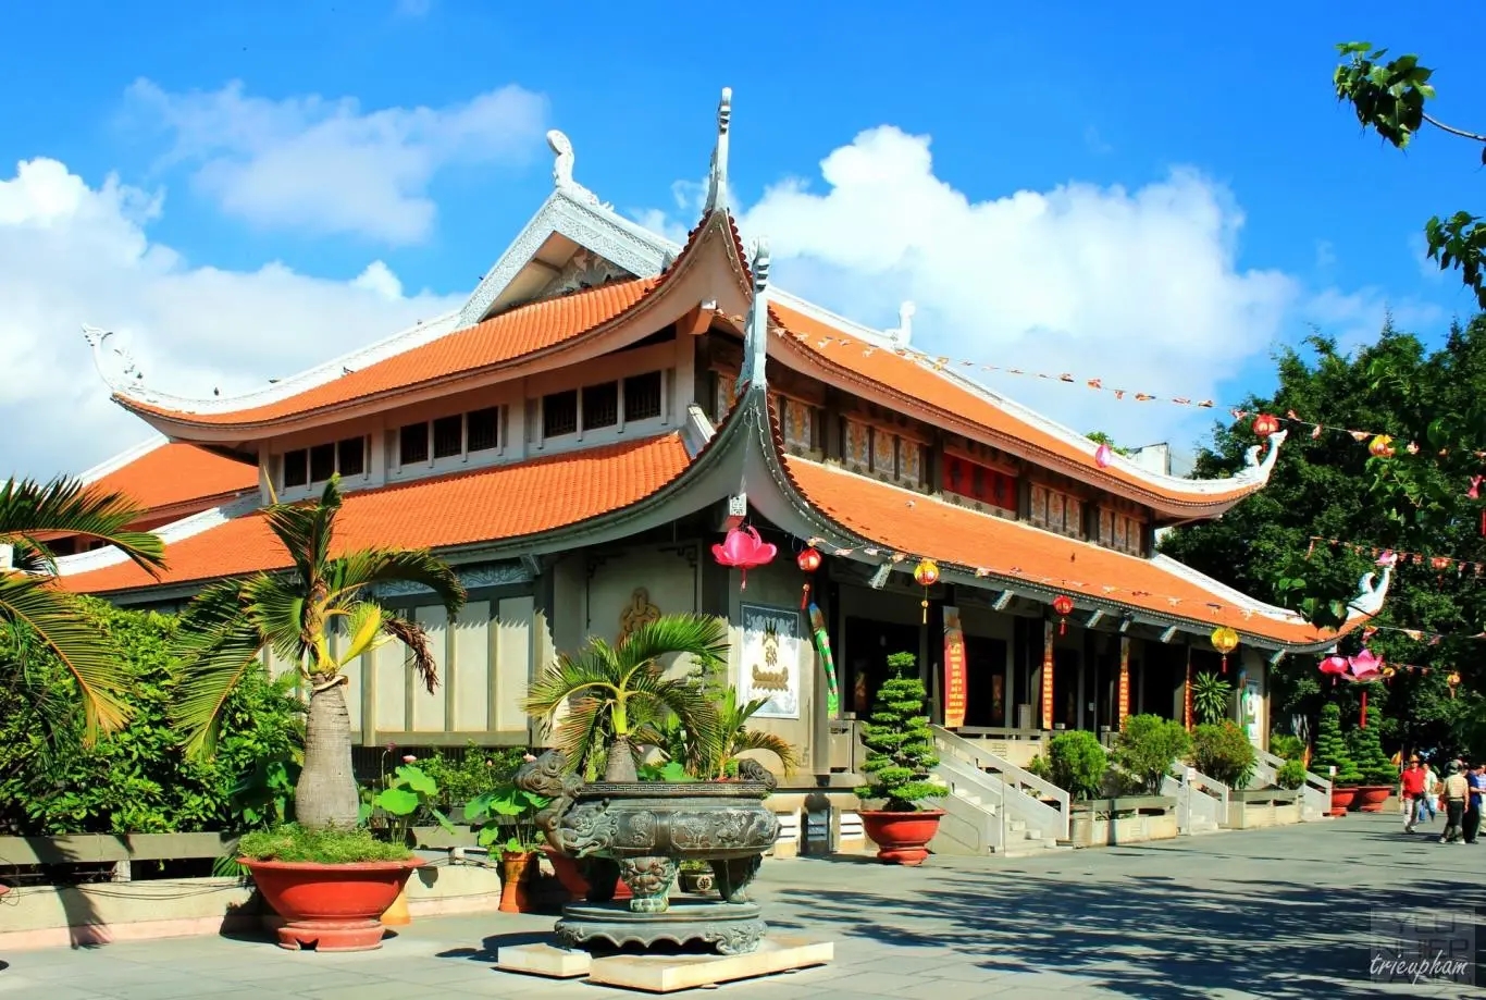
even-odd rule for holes
{"type": "MultiPolygon", "coordinates": [[[[912,297],[926,349],[1235,398],[1262,388],[1272,345],[1311,322],[1357,339],[1391,306],[1435,339],[1473,300],[1422,263],[1419,230],[1434,212],[1480,207],[1479,159],[1438,135],[1407,156],[1363,137],[1331,95],[1331,46],[1419,52],[1437,67],[1437,113],[1480,128],[1486,80],[1468,67],[1486,9],[1314,6],[19,6],[0,36],[0,88],[24,98],[0,111],[0,186],[18,162],[55,160],[65,171],[48,184],[68,178],[77,201],[48,215],[33,174],[9,192],[31,208],[12,208],[6,233],[0,192],[0,264],[24,264],[24,281],[0,276],[7,299],[22,296],[0,315],[0,339],[33,386],[0,395],[0,415],[58,407],[48,434],[6,441],[0,458],[21,473],[76,471],[141,435],[100,403],[80,322],[128,327],[168,388],[207,395],[458,302],[550,190],[545,128],[569,134],[578,178],[618,210],[685,227],[685,183],[706,171],[724,85],[744,230],[767,227],[782,247],[782,282],[880,327],[912,297]],[[351,125],[317,131],[325,120],[351,125]],[[912,137],[932,137],[923,175],[912,137]],[[360,156],[337,159],[342,140],[360,156]],[[822,160],[844,147],[854,156],[823,178],[822,160]],[[886,189],[862,180],[889,160],[886,189]],[[363,171],[364,198],[336,180],[339,163],[363,171]],[[849,198],[846,175],[871,196],[849,198]],[[782,189],[788,178],[802,187],[782,189]],[[883,190],[911,184],[903,217],[884,210],[883,190]],[[976,211],[993,202],[1000,211],[976,211]],[[1061,224],[1034,229],[1045,215],[1061,224]],[[862,220],[880,236],[871,254],[853,232],[862,220]],[[909,235],[883,235],[898,223],[909,235]],[[1193,267],[1204,239],[1214,257],[1193,267]],[[1016,263],[997,256],[1008,245],[1040,264],[996,294],[994,282],[972,288],[976,266],[1016,263]],[[91,273],[91,254],[113,263],[91,273]],[[1119,270],[1135,259],[1138,275],[1119,270]],[[43,272],[39,260],[58,263],[43,272]],[[349,284],[372,262],[395,273],[391,287],[372,282],[385,302],[349,284]],[[1092,272],[1109,269],[1101,285],[1092,272]],[[1057,275],[1043,294],[1006,302],[1043,272],[1057,275]],[[1171,296],[1150,293],[1162,281],[1171,296]],[[1112,302],[1122,290],[1134,300],[1112,302]],[[254,322],[273,331],[259,337],[254,322]],[[65,388],[34,389],[46,380],[65,388]]],[[[1065,389],[990,385],[1132,443],[1187,446],[1201,432],[1175,407],[1131,418],[1065,389]]]]}

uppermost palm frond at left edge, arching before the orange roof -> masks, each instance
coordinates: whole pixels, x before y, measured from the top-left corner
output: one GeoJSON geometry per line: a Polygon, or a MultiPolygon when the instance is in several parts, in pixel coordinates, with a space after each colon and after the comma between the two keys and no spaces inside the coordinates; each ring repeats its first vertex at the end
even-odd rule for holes
{"type": "Polygon", "coordinates": [[[0,486],[0,538],[25,536],[48,559],[52,553],[37,535],[82,535],[114,545],[141,569],[158,574],[165,565],[165,542],[159,535],[129,530],[143,514],[123,493],[106,493],[73,478],[48,483],[10,478],[0,486]]]}

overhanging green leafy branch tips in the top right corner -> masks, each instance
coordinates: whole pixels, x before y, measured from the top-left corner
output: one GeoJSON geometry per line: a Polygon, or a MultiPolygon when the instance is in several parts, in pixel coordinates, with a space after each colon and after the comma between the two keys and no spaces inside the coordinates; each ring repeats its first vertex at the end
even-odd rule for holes
{"type": "MultiPolygon", "coordinates": [[[[1425,126],[1480,147],[1480,162],[1486,165],[1486,134],[1447,125],[1427,108],[1434,100],[1434,70],[1419,65],[1419,56],[1400,55],[1383,61],[1386,49],[1373,49],[1370,42],[1337,45],[1342,64],[1331,74],[1336,97],[1352,105],[1364,129],[1373,129],[1397,149],[1407,149],[1425,126]]],[[[1441,270],[1459,269],[1467,288],[1486,309],[1486,221],[1468,211],[1435,215],[1424,226],[1430,259],[1441,270]]]]}

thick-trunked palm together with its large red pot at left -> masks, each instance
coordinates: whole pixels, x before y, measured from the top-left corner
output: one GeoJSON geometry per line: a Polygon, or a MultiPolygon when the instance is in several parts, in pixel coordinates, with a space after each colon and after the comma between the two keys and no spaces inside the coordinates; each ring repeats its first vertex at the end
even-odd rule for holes
{"type": "Polygon", "coordinates": [[[339,511],[336,478],[318,502],[270,505],[263,517],[288,553],[291,569],[211,584],[186,609],[177,637],[186,682],[175,721],[192,753],[214,750],[223,703],[250,670],[262,669],[259,657],[266,648],[297,667],[309,694],[305,765],[294,786],[296,823],[239,842],[241,863],[287,920],[278,936],[290,949],[380,948],[380,915],[421,863],[406,844],[379,841],[358,828],[361,798],[352,776],[343,667],[383,642],[398,640],[428,689],[438,684],[428,634],[380,605],[374,587],[421,584],[450,615],[465,599],[453,571],[426,550],[333,554],[339,511]],[[339,652],[331,651],[333,632],[345,637],[339,652]]]}

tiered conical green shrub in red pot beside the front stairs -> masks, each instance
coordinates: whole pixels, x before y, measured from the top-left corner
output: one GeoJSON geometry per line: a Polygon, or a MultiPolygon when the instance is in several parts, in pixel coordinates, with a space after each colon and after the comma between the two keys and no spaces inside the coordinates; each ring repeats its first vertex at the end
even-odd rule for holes
{"type": "Polygon", "coordinates": [[[863,801],[884,804],[880,810],[862,810],[862,826],[877,844],[878,859],[895,865],[923,865],[944,817],[944,810],[921,805],[942,796],[945,789],[929,780],[939,758],[933,753],[933,731],[924,713],[927,692],[917,676],[917,663],[911,652],[889,654],[893,676],[878,689],[872,719],[862,727],[866,746],[862,770],[868,780],[856,793],[863,801]],[[903,676],[905,670],[914,675],[903,676]]]}

